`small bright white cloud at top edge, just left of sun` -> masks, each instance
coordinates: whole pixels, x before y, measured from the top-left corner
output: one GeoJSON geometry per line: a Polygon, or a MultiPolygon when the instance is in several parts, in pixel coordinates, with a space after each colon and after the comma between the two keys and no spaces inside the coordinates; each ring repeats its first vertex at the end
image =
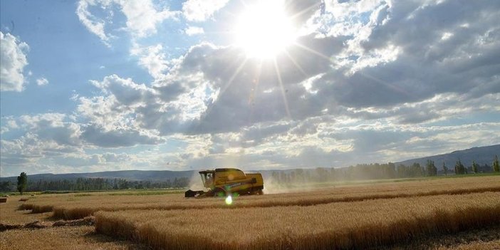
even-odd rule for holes
{"type": "Polygon", "coordinates": [[[182,13],[188,21],[206,21],[226,6],[229,0],[188,0],[182,4],[182,13]]]}

